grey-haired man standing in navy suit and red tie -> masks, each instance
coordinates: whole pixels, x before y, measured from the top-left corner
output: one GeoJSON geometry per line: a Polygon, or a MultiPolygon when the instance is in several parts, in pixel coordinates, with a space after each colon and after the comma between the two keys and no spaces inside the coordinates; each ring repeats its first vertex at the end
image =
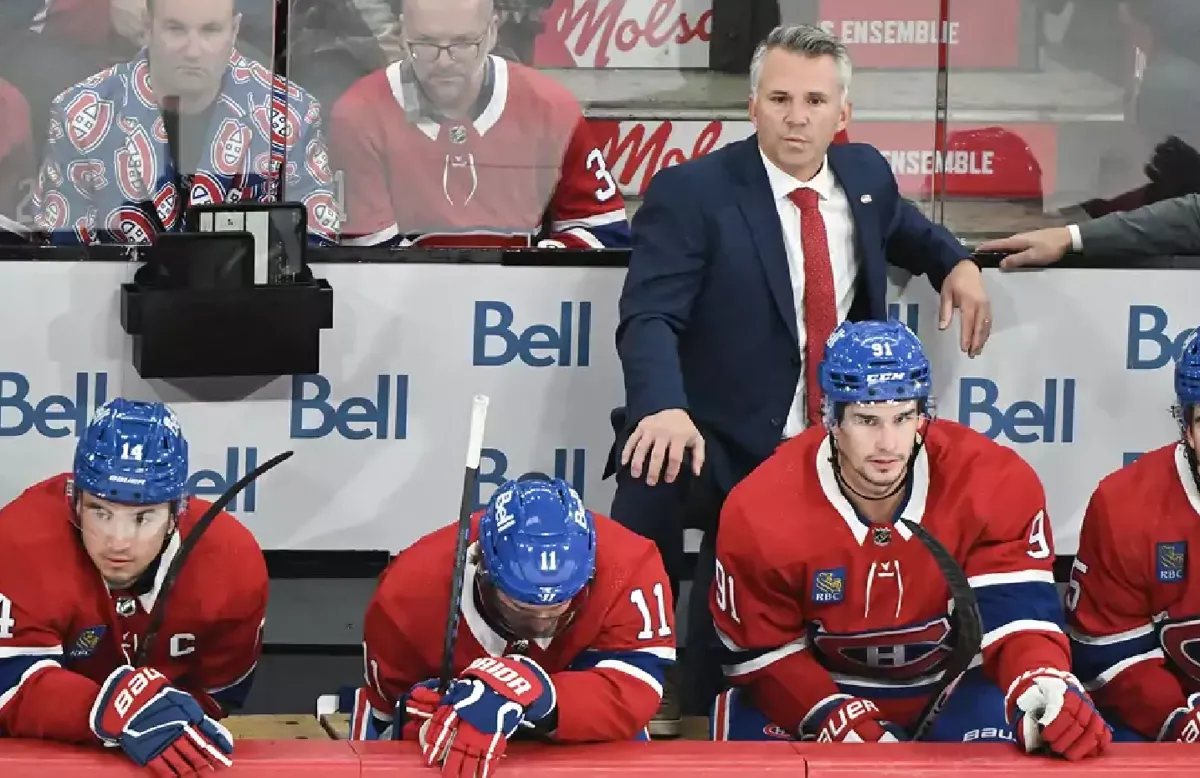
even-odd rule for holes
{"type": "MultiPolygon", "coordinates": [[[[677,597],[684,514],[709,516],[690,635],[695,621],[710,629],[724,495],[818,421],[824,341],[842,319],[886,318],[887,265],[929,277],[942,329],[960,312],[964,352],[978,354],[990,334],[970,252],[900,197],[875,148],[832,145],[850,120],[851,72],[846,48],[820,28],[776,28],[751,61],[756,134],[661,170],[634,216],[612,516],[659,545],[677,597]]],[[[706,714],[692,664],[684,689],[701,699],[685,712],[706,714]]]]}

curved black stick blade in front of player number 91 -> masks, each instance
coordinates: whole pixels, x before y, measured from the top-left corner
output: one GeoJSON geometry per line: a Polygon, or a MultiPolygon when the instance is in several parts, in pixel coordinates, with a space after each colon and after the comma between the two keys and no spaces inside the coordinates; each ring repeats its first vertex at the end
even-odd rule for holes
{"type": "Polygon", "coordinates": [[[979,653],[979,648],[983,646],[983,621],[979,617],[979,602],[976,599],[974,590],[971,588],[966,573],[954,561],[946,546],[919,523],[908,519],[900,519],[900,522],[908,527],[917,535],[917,539],[929,549],[942,571],[942,577],[946,579],[946,584],[950,588],[950,599],[954,600],[954,612],[950,614],[954,648],[950,651],[949,659],[946,660],[942,680],[929,702],[925,704],[925,710],[920,712],[920,718],[917,719],[917,729],[913,731],[912,738],[919,741],[929,734],[938,713],[946,707],[946,701],[979,653]]]}

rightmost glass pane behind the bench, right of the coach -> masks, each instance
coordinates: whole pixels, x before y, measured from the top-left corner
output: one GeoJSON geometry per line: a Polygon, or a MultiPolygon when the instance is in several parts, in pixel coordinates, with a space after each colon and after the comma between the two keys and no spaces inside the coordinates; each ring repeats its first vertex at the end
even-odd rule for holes
{"type": "Polygon", "coordinates": [[[938,197],[959,233],[1078,222],[1200,186],[1200,4],[949,0],[948,25],[954,172],[938,197]],[[972,29],[985,46],[968,44],[972,29]]]}

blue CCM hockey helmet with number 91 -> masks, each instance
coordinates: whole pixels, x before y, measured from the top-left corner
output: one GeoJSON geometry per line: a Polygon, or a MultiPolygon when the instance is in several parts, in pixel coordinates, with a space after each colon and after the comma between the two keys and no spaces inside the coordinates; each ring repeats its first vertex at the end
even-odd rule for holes
{"type": "Polygon", "coordinates": [[[842,322],[826,341],[818,381],[830,403],[924,401],[929,359],[902,322],[842,322]]]}

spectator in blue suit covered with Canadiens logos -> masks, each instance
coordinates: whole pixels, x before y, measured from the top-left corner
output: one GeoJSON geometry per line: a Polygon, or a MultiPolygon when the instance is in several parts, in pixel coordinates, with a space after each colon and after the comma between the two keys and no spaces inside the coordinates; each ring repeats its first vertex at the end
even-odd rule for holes
{"type": "Polygon", "coordinates": [[[55,244],[145,244],[180,229],[188,204],[276,201],[282,169],[310,239],[336,240],[320,108],[235,50],[234,0],[150,0],[148,11],[146,49],[55,98],[37,227],[55,244]]]}

